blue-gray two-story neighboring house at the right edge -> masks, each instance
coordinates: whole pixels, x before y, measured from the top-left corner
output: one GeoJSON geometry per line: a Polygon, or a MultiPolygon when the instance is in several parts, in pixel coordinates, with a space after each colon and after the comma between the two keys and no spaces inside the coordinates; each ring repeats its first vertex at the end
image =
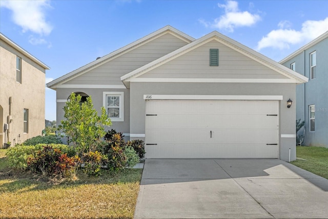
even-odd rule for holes
{"type": "Polygon", "coordinates": [[[328,147],[328,31],[280,63],[309,77],[296,86],[296,118],[305,121],[302,145],[328,147]]]}

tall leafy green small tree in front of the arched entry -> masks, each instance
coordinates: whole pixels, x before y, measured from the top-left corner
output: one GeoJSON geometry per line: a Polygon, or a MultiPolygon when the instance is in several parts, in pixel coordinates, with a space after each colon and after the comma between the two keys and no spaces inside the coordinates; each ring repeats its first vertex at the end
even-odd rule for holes
{"type": "Polygon", "coordinates": [[[76,148],[79,155],[94,151],[106,132],[105,126],[110,126],[105,107],[101,107],[101,115],[93,108],[91,97],[81,103],[81,96],[72,93],[64,107],[64,117],[58,126],[68,137],[68,142],[76,148]]]}

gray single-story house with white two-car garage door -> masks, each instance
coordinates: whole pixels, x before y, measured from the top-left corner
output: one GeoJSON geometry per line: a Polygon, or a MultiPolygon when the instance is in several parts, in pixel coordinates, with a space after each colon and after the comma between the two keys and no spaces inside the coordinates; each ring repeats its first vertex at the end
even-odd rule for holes
{"type": "Polygon", "coordinates": [[[71,92],[105,106],[146,158],[296,159],[296,85],[308,78],[213,31],[161,28],[47,84],[57,122],[71,92]]]}

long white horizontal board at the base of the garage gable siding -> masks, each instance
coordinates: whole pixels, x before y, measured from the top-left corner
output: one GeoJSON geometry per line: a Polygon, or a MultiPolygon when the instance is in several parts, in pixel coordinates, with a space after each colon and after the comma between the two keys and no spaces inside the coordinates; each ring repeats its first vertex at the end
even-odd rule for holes
{"type": "Polygon", "coordinates": [[[294,78],[131,78],[129,82],[178,82],[178,83],[292,83],[294,78]]]}

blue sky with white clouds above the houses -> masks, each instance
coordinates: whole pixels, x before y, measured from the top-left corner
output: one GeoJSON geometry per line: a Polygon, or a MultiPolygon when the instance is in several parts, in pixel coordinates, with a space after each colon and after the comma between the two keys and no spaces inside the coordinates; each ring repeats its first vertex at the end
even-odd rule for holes
{"type": "MultiPolygon", "coordinates": [[[[275,61],[328,30],[328,1],[0,1],[0,31],[51,69],[46,81],[171,25],[214,30],[275,61]]],[[[46,89],[46,119],[56,94],[46,89]]]]}

